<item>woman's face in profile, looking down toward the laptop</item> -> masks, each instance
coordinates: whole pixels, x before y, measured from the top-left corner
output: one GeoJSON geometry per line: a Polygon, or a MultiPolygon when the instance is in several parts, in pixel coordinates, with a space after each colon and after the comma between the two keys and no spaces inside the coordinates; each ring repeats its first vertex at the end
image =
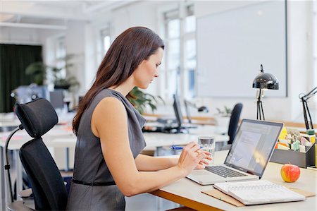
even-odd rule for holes
{"type": "Polygon", "coordinates": [[[159,77],[158,67],[163,58],[163,49],[160,47],[149,59],[143,60],[132,73],[135,86],[146,89],[154,78],[159,77]]]}

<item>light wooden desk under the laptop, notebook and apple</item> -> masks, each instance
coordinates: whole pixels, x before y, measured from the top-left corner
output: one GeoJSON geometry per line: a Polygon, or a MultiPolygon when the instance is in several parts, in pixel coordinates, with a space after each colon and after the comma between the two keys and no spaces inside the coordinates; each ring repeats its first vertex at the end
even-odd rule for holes
{"type": "MultiPolygon", "coordinates": [[[[223,162],[228,151],[215,152],[215,162],[223,162]]],[[[295,183],[285,183],[280,177],[281,164],[269,162],[266,171],[263,174],[263,179],[273,181],[274,183],[282,184],[292,188],[300,188],[305,191],[316,193],[317,191],[317,171],[301,168],[301,176],[295,183]]],[[[275,203],[268,205],[251,205],[244,207],[235,207],[229,203],[213,198],[209,195],[201,193],[213,188],[212,186],[201,186],[189,179],[180,179],[168,186],[160,188],[151,194],[161,198],[171,200],[175,203],[185,205],[194,210],[316,210],[316,196],[306,198],[302,202],[293,203],[275,203]]]]}

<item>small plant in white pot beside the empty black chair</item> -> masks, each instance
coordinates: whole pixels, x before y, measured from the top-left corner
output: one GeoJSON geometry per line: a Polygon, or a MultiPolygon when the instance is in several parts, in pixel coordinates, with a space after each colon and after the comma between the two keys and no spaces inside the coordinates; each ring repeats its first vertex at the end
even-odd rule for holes
{"type": "Polygon", "coordinates": [[[216,109],[218,111],[215,115],[216,133],[227,133],[232,109],[226,106],[223,109],[216,109]]]}

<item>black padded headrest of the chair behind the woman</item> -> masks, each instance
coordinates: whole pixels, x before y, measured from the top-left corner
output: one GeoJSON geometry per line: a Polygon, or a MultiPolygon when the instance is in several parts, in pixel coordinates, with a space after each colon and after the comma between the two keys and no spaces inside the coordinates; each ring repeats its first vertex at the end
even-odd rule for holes
{"type": "Polygon", "coordinates": [[[58,117],[51,103],[38,98],[25,104],[15,104],[15,114],[32,138],[39,138],[58,123],[58,117]]]}

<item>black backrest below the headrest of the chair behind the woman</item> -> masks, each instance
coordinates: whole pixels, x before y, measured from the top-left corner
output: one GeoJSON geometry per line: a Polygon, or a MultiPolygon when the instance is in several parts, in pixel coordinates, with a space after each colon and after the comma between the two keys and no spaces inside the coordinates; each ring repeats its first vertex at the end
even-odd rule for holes
{"type": "Polygon", "coordinates": [[[65,210],[67,191],[53,157],[42,138],[25,143],[20,159],[32,186],[36,210],[65,210]]]}

